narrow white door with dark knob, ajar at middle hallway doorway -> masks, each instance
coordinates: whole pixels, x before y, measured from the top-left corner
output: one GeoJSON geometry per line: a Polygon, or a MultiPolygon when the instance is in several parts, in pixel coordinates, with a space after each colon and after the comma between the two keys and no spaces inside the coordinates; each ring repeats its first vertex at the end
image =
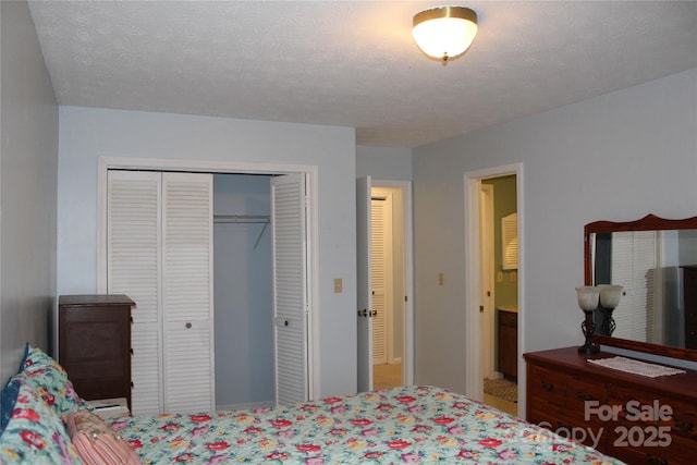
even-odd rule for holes
{"type": "Polygon", "coordinates": [[[356,247],[358,303],[358,392],[372,389],[372,283],[370,176],[356,180],[356,247]]]}

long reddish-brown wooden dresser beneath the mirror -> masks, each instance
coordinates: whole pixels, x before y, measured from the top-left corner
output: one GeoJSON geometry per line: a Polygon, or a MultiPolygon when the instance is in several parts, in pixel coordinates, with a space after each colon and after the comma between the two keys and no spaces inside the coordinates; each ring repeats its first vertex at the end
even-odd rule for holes
{"type": "Polygon", "coordinates": [[[526,419],[628,464],[697,461],[697,371],[648,378],[588,363],[577,347],[524,354],[526,419]]]}

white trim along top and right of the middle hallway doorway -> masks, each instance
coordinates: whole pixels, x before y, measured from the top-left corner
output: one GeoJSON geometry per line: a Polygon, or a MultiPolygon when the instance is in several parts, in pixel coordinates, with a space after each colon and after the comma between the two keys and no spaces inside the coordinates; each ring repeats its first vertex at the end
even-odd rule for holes
{"type": "Polygon", "coordinates": [[[414,384],[414,245],[412,215],[412,182],[371,180],[371,187],[395,187],[403,193],[404,215],[404,347],[402,357],[402,382],[414,384]]]}

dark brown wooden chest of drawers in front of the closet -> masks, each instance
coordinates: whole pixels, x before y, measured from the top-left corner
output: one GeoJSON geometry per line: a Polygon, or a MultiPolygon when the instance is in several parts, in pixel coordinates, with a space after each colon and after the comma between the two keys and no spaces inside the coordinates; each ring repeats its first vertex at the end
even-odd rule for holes
{"type": "Polygon", "coordinates": [[[125,295],[61,295],[58,360],[86,401],[125,397],[131,408],[131,307],[125,295]]]}

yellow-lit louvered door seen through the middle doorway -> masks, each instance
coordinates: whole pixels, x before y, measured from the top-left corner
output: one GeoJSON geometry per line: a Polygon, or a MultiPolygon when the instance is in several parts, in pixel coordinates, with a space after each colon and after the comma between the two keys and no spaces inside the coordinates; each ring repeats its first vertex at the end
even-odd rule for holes
{"type": "Polygon", "coordinates": [[[384,237],[384,200],[372,200],[370,203],[370,222],[372,241],[370,246],[372,253],[370,259],[372,260],[372,309],[376,311],[372,316],[372,363],[387,364],[387,302],[386,302],[386,286],[387,286],[387,249],[384,237]]]}

